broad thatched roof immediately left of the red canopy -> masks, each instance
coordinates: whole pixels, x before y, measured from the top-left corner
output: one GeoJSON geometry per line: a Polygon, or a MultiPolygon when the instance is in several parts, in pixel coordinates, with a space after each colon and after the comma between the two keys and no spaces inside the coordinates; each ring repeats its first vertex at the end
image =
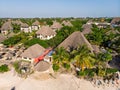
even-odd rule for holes
{"type": "Polygon", "coordinates": [[[45,51],[45,48],[43,48],[39,44],[35,44],[35,45],[29,47],[27,50],[25,50],[21,54],[21,57],[37,58],[41,54],[43,54],[44,51],[45,51]]]}

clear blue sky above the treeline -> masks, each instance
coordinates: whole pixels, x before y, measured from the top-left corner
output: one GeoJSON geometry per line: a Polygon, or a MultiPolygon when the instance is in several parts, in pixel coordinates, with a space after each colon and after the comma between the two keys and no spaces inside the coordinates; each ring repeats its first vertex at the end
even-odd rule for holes
{"type": "Polygon", "coordinates": [[[106,16],[120,16],[120,0],[0,0],[0,17],[106,16]]]}

